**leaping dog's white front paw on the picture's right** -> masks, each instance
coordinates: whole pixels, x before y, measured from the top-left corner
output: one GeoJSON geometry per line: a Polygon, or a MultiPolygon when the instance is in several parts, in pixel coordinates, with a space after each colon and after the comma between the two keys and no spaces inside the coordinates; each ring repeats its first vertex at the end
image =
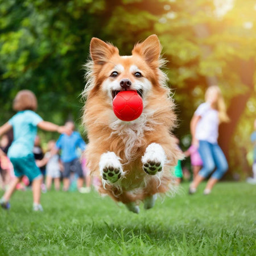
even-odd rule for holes
{"type": "Polygon", "coordinates": [[[163,170],[166,162],[166,154],[163,147],[157,143],[152,143],[146,148],[144,156],[142,156],[143,170],[146,174],[155,175],[163,170]]]}

